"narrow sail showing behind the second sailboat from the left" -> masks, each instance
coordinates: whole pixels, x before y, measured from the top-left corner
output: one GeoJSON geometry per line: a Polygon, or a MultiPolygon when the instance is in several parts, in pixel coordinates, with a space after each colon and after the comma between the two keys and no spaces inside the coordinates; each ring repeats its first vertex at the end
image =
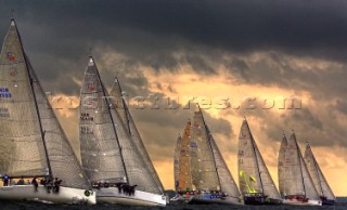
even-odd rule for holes
{"type": "Polygon", "coordinates": [[[141,159],[145,163],[145,168],[150,171],[151,179],[154,180],[156,186],[155,188],[159,188],[160,193],[163,193],[164,187],[159,180],[158,174],[155,171],[155,168],[152,163],[152,160],[149,156],[147,150],[145,149],[145,146],[143,144],[143,141],[141,139],[141,135],[134,124],[134,121],[132,119],[132,116],[129,111],[128,105],[121,94],[121,87],[119,83],[119,80],[116,78],[114,81],[114,86],[112,87],[112,90],[110,92],[110,95],[113,96],[113,100],[115,101],[115,109],[124,124],[124,128],[126,131],[128,131],[134,146],[137,147],[138,152],[140,153],[141,159]]]}

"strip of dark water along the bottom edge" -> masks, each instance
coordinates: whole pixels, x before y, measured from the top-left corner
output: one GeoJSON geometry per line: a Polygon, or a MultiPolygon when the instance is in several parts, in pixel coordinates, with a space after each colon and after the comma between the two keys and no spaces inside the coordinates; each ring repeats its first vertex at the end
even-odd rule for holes
{"type": "Polygon", "coordinates": [[[206,205],[206,206],[196,206],[196,205],[176,205],[170,204],[167,207],[124,207],[118,205],[106,205],[99,204],[95,206],[73,206],[73,205],[46,205],[38,202],[15,202],[15,201],[0,201],[1,210],[347,210],[347,199],[339,199],[339,204],[334,207],[293,207],[293,206],[220,206],[220,205],[206,205]]]}

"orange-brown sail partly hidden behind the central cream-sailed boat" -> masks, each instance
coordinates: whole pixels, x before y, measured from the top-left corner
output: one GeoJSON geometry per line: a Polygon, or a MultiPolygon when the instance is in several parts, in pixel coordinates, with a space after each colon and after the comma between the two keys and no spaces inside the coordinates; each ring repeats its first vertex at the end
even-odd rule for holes
{"type": "Polygon", "coordinates": [[[191,174],[191,147],[195,147],[194,143],[191,143],[191,121],[187,122],[183,137],[181,137],[178,155],[178,191],[190,191],[192,186],[191,174]]]}

